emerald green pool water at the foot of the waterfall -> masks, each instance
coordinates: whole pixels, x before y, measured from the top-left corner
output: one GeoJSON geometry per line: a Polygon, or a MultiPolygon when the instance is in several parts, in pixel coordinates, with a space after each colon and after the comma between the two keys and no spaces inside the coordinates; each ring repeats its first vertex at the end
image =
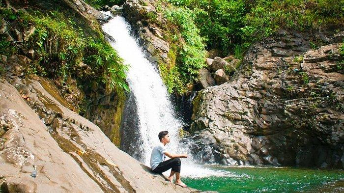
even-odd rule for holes
{"type": "Polygon", "coordinates": [[[219,193],[344,193],[344,171],[287,167],[211,167],[230,176],[184,177],[191,188],[219,193]]]}

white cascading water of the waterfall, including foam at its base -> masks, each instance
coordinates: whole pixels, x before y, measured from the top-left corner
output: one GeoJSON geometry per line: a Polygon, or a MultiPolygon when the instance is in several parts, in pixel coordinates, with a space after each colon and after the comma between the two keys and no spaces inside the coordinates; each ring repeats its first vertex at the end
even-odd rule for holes
{"type": "MultiPolygon", "coordinates": [[[[110,12],[104,13],[110,15],[110,12]]],[[[145,58],[138,41],[130,33],[130,25],[123,17],[115,16],[103,25],[103,30],[115,39],[115,42],[110,42],[110,44],[124,62],[130,65],[126,74],[137,104],[142,141],[140,149],[143,151],[141,161],[149,166],[151,150],[159,142],[158,133],[164,130],[168,130],[171,137],[167,149],[172,153],[187,153],[187,147],[178,146],[178,132],[183,123],[175,118],[169,94],[159,72],[145,58]]],[[[183,159],[182,163],[181,175],[183,176],[230,175],[195,165],[191,158],[183,159]]]]}

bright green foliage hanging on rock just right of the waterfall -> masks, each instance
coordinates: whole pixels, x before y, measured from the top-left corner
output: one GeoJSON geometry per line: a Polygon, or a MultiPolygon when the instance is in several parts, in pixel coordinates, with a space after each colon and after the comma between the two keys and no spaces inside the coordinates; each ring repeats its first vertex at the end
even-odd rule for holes
{"type": "Polygon", "coordinates": [[[197,79],[197,69],[206,65],[204,38],[193,22],[195,14],[189,9],[171,6],[164,11],[164,16],[169,22],[171,36],[168,39],[174,45],[171,53],[175,57],[175,66],[163,69],[162,75],[169,92],[177,90],[182,93],[186,83],[197,79]]]}

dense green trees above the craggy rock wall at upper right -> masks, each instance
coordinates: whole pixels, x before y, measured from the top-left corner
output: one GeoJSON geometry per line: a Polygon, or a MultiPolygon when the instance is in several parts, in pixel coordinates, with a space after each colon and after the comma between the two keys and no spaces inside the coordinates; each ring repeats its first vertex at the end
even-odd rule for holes
{"type": "Polygon", "coordinates": [[[237,45],[248,48],[279,28],[306,31],[344,23],[343,0],[167,1],[192,10],[207,47],[220,49],[224,55],[234,52],[237,45]]]}

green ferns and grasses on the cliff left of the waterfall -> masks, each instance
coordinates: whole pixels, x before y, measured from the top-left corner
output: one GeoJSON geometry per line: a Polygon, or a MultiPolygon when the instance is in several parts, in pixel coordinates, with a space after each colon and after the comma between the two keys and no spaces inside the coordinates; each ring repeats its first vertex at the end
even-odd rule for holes
{"type": "Polygon", "coordinates": [[[117,52],[101,37],[86,37],[81,28],[61,12],[43,14],[20,12],[22,25],[32,24],[36,30],[23,46],[38,56],[28,72],[38,73],[66,83],[69,76],[85,81],[104,83],[109,92],[128,90],[123,65],[117,52]],[[80,70],[84,62],[88,70],[80,70]]]}

